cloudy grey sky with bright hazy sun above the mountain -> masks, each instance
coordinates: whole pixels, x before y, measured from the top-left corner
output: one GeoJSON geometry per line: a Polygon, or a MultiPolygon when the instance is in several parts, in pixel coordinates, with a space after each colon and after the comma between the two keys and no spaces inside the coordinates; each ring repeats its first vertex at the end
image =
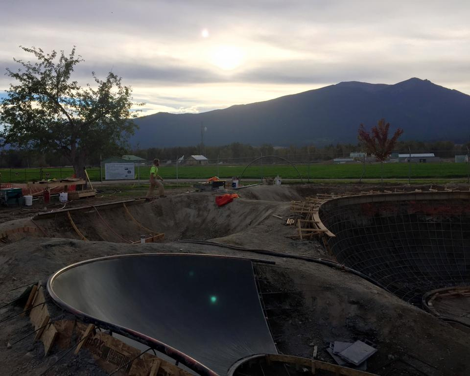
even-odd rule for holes
{"type": "MultiPolygon", "coordinates": [[[[470,94],[468,0],[0,0],[0,71],[19,48],[112,70],[145,114],[204,112],[341,81],[410,77],[470,94]]],[[[0,95],[8,88],[0,75],[0,95]]]]}

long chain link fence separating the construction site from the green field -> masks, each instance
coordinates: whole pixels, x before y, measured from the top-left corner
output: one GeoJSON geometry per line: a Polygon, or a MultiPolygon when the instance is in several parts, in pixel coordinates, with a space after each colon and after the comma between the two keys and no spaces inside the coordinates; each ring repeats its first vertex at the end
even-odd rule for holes
{"type": "MultiPolygon", "coordinates": [[[[446,153],[448,155],[448,151],[446,153]]],[[[264,177],[280,176],[283,180],[300,180],[302,177],[304,182],[322,179],[380,180],[382,177],[383,179],[400,179],[409,182],[420,179],[470,181],[468,154],[459,157],[439,157],[438,152],[434,152],[434,157],[427,156],[429,154],[420,151],[410,152],[409,150],[394,153],[392,158],[383,164],[377,162],[373,157],[357,154],[350,156],[343,153],[260,155],[258,158],[262,158],[254,163],[252,162],[256,158],[253,157],[213,159],[187,157],[183,160],[177,158],[161,159],[159,174],[164,179],[171,180],[206,180],[213,176],[230,179],[239,177],[243,173],[243,179],[261,180],[264,177]],[[252,164],[245,169],[250,163],[252,164]],[[294,164],[296,168],[293,168],[291,164],[294,164]]],[[[137,181],[148,181],[151,165],[152,161],[135,163],[133,178],[137,181]]],[[[64,179],[72,177],[74,173],[70,166],[1,168],[0,172],[1,183],[64,179]]],[[[87,172],[91,181],[105,180],[104,163],[101,166],[88,166],[87,172]]]]}

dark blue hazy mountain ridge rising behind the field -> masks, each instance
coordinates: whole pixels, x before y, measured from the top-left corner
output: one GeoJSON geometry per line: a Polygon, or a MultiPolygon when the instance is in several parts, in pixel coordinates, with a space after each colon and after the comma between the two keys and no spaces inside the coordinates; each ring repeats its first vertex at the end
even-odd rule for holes
{"type": "Polygon", "coordinates": [[[130,140],[141,148],[242,142],[326,144],[357,142],[357,129],[380,118],[403,140],[466,142],[470,136],[470,95],[411,78],[394,85],[340,82],[304,93],[200,114],[158,113],[135,119],[130,140]]]}

